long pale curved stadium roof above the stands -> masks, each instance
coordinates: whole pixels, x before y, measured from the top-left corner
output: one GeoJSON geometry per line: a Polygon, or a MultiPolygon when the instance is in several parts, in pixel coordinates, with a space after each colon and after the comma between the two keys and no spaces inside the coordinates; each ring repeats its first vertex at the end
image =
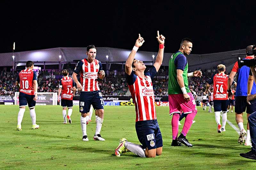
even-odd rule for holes
{"type": "MultiPolygon", "coordinates": [[[[13,62],[19,65],[25,65],[28,60],[34,61],[38,64],[59,64],[61,63],[73,63],[83,58],[85,55],[86,48],[49,48],[33,51],[23,51],[15,53],[0,53],[0,66],[12,66],[13,62]],[[14,60],[12,56],[14,55],[14,60]],[[61,57],[59,57],[61,56],[61,57]]],[[[131,49],[120,49],[120,48],[109,48],[109,47],[98,47],[96,59],[100,60],[101,63],[125,63],[131,49]],[[108,58],[106,57],[108,55],[108,58]]],[[[244,53],[245,49],[211,53],[211,54],[190,54],[187,59],[189,63],[189,69],[212,69],[216,68],[218,64],[225,64],[227,71],[229,72],[234,63],[237,61],[238,55],[231,55],[234,53],[244,53]]],[[[140,51],[135,55],[135,58],[143,61],[146,65],[151,65],[153,60],[155,61],[158,52],[140,51]],[[152,55],[155,57],[153,58],[152,55]]],[[[169,59],[172,53],[164,53],[163,66],[168,66],[169,59]]],[[[240,55],[244,58],[245,55],[240,55]]]]}

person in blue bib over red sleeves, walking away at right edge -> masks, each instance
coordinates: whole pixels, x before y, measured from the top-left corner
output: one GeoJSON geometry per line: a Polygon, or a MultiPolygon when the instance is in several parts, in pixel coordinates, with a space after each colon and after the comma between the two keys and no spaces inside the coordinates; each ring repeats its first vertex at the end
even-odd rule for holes
{"type": "MultiPolygon", "coordinates": [[[[254,55],[249,55],[249,52],[254,49],[255,46],[247,46],[245,49],[245,52],[247,56],[244,59],[253,59],[254,55]]],[[[228,78],[228,97],[229,99],[232,99],[232,92],[231,92],[231,84],[233,82],[233,79],[237,75],[237,87],[236,87],[236,98],[235,98],[235,112],[236,112],[236,123],[238,125],[238,128],[240,129],[240,135],[238,138],[238,144],[243,144],[244,142],[244,136],[246,134],[246,131],[244,129],[243,124],[243,112],[247,113],[247,118],[250,114],[256,111],[256,100],[250,101],[251,105],[249,105],[246,101],[246,97],[248,94],[255,94],[256,93],[256,85],[252,81],[252,79],[249,79],[249,70],[250,68],[246,65],[242,66],[241,68],[238,68],[238,62],[235,63],[233,69],[231,70],[231,73],[229,74],[228,78]],[[249,81],[248,81],[249,80],[249,81]],[[249,89],[247,87],[250,87],[249,89]],[[251,88],[252,86],[252,88],[251,88]],[[251,91],[249,91],[251,90],[251,91]]],[[[250,142],[250,130],[249,130],[249,123],[247,122],[247,137],[244,145],[251,146],[250,142]]]]}

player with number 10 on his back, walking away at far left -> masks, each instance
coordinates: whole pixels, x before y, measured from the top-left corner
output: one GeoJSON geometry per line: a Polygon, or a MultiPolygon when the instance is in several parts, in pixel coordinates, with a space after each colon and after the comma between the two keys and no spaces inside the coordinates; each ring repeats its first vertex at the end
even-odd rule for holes
{"type": "Polygon", "coordinates": [[[21,130],[21,122],[25,112],[26,106],[29,107],[30,117],[32,120],[32,129],[38,129],[39,125],[36,124],[36,100],[37,100],[37,73],[33,71],[34,62],[27,61],[26,69],[21,70],[16,79],[15,85],[20,88],[19,90],[19,105],[20,111],[18,113],[17,130],[21,130]]]}

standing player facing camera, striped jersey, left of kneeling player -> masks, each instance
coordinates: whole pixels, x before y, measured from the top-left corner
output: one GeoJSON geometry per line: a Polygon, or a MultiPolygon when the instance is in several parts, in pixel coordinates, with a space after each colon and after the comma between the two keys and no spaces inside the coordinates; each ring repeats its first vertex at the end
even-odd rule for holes
{"type": "Polygon", "coordinates": [[[90,107],[97,111],[98,117],[96,119],[96,131],[94,140],[105,141],[100,135],[100,130],[103,122],[104,107],[103,98],[98,85],[98,78],[105,77],[105,71],[102,70],[102,64],[99,60],[95,59],[97,50],[94,45],[89,45],[86,50],[87,58],[79,61],[72,74],[72,78],[76,83],[76,88],[80,91],[79,108],[81,113],[81,128],[83,132],[83,141],[88,141],[86,133],[86,122],[89,116],[90,107]],[[77,75],[80,75],[80,82],[77,75]]]}

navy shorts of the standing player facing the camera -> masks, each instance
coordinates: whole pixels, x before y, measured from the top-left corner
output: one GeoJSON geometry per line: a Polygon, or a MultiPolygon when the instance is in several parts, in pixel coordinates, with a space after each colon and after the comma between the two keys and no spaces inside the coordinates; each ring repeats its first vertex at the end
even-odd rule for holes
{"type": "Polygon", "coordinates": [[[93,92],[80,92],[80,113],[88,113],[91,105],[95,110],[104,109],[104,101],[101,92],[99,90],[93,92]]]}

